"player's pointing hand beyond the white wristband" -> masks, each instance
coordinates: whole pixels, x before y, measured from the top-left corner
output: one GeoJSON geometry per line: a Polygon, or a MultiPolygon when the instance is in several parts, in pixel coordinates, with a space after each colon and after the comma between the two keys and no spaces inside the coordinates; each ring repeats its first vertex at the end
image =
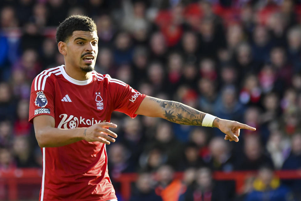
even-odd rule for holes
{"type": "Polygon", "coordinates": [[[235,121],[230,121],[226,119],[220,119],[220,118],[215,118],[213,121],[213,127],[219,128],[219,130],[223,133],[225,133],[225,140],[235,141],[238,142],[238,137],[240,133],[240,128],[242,129],[247,129],[250,131],[255,131],[256,128],[253,128],[251,126],[248,126],[246,124],[240,123],[240,122],[235,122],[235,121]]]}

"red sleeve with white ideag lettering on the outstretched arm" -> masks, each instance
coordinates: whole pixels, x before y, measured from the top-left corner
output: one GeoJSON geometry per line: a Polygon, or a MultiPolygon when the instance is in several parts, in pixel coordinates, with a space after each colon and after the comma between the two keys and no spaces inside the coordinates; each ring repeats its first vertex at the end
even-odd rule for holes
{"type": "MultiPolygon", "coordinates": [[[[108,77],[108,76],[106,76],[108,77]]],[[[129,117],[135,118],[135,112],[146,95],[133,89],[128,84],[118,79],[108,79],[111,98],[114,101],[114,111],[123,112],[129,117]]]]}

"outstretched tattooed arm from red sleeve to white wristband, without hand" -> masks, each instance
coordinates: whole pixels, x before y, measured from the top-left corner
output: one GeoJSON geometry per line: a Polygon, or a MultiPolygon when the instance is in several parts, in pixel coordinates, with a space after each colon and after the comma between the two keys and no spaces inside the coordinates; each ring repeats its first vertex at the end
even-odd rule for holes
{"type": "MultiPolygon", "coordinates": [[[[172,100],[162,100],[146,96],[141,102],[135,114],[149,117],[161,117],[170,122],[202,126],[206,113],[198,111],[190,106],[172,100]]],[[[217,121],[216,118],[215,121],[217,121]]]]}

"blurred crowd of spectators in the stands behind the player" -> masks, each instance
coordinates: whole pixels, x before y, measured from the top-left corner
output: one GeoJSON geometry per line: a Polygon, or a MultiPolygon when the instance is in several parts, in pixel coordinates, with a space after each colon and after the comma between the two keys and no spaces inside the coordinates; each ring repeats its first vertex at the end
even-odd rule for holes
{"type": "Polygon", "coordinates": [[[114,113],[107,146],[119,201],[301,200],[300,0],[1,0],[0,200],[37,200],[41,150],[30,87],[64,63],[56,26],[98,27],[95,66],[141,93],[256,127],[216,128],[114,113]]]}

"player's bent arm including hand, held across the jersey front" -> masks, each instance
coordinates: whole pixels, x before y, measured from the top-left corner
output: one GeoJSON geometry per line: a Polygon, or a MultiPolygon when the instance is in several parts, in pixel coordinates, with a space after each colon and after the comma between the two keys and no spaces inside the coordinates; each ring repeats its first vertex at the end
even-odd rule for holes
{"type": "Polygon", "coordinates": [[[88,128],[61,129],[55,128],[55,120],[49,115],[34,117],[33,121],[35,137],[40,147],[59,147],[80,140],[110,144],[117,137],[116,133],[107,129],[116,128],[117,125],[109,122],[94,124],[88,128]]]}

